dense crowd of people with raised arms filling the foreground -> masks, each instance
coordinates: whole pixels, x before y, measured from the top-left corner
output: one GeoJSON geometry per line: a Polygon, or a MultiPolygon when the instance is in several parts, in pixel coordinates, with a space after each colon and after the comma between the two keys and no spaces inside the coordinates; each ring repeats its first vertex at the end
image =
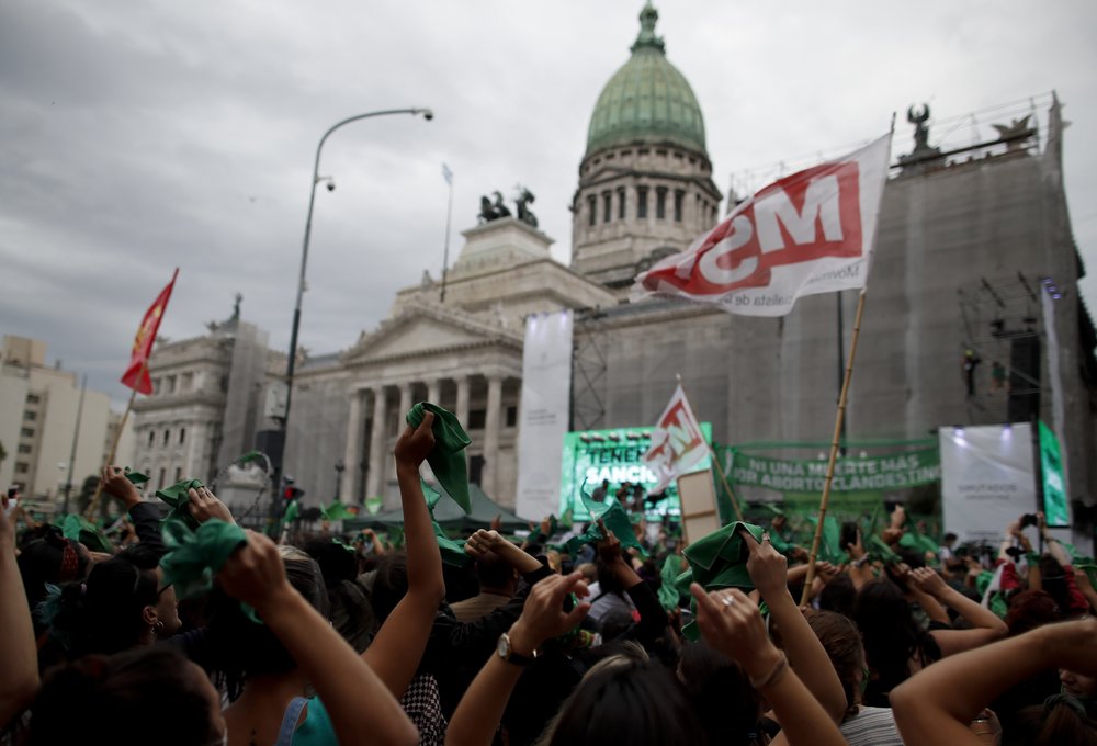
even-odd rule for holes
{"type": "Polygon", "coordinates": [[[433,421],[395,447],[398,549],[276,544],[201,485],[163,521],[113,465],[125,546],[20,529],[2,498],[2,742],[1097,744],[1097,591],[1042,516],[989,557],[904,542],[902,508],[855,521],[806,594],[781,516],[724,527],[719,554],[546,519],[477,530],[462,563],[423,495],[433,421]]]}

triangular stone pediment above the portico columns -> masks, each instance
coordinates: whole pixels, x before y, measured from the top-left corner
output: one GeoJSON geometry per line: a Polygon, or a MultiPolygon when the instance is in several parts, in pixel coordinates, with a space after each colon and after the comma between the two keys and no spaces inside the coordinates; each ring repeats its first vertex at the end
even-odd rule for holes
{"type": "Polygon", "coordinates": [[[488,346],[521,349],[522,337],[502,323],[494,324],[450,306],[415,303],[382,321],[374,331],[362,332],[342,360],[355,365],[488,346]]]}

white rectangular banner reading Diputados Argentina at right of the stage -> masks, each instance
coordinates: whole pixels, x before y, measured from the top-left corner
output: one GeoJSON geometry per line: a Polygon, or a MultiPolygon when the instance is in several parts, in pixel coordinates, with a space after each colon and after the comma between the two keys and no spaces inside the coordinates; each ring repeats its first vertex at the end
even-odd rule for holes
{"type": "Polygon", "coordinates": [[[1031,425],[948,427],[939,438],[946,531],[996,544],[1011,521],[1036,512],[1031,425]]]}

